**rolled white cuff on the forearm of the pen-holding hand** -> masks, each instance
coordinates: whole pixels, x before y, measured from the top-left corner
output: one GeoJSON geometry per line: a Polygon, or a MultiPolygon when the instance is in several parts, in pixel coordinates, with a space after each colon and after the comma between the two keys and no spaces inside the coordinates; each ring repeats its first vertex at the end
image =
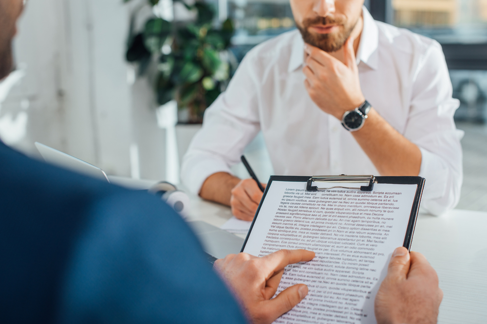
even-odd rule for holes
{"type": "Polygon", "coordinates": [[[201,155],[185,159],[181,168],[181,180],[183,184],[194,194],[199,194],[205,180],[217,172],[226,172],[232,174],[230,167],[217,158],[206,157],[201,155]]]}

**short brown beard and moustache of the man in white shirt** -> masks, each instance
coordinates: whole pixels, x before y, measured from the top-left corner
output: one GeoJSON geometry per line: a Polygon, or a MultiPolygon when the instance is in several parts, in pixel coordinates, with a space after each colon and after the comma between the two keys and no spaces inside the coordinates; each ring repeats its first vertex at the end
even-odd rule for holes
{"type": "Polygon", "coordinates": [[[331,18],[331,17],[316,17],[309,18],[303,21],[302,26],[296,23],[301,32],[305,43],[318,47],[325,52],[336,52],[343,47],[350,34],[354,30],[356,23],[352,26],[346,26],[346,19],[331,18]],[[344,30],[339,34],[318,34],[310,33],[308,28],[314,25],[328,25],[336,24],[344,30]]]}

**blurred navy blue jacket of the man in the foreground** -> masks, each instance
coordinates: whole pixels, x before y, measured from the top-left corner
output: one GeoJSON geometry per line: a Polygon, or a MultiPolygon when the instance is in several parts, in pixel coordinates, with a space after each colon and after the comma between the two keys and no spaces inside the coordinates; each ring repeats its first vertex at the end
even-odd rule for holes
{"type": "Polygon", "coordinates": [[[245,319],[169,206],[0,142],[0,323],[245,319]]]}

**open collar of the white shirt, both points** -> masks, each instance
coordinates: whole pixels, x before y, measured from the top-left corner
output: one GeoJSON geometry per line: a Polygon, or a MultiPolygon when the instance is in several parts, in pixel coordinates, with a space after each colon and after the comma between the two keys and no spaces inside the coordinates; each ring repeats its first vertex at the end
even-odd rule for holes
{"type": "MultiPolygon", "coordinates": [[[[357,65],[362,61],[372,69],[377,69],[379,46],[379,29],[365,6],[362,9],[364,27],[360,35],[360,44],[357,51],[357,65]]],[[[304,41],[300,33],[294,38],[288,72],[292,72],[303,65],[304,41]]]]}

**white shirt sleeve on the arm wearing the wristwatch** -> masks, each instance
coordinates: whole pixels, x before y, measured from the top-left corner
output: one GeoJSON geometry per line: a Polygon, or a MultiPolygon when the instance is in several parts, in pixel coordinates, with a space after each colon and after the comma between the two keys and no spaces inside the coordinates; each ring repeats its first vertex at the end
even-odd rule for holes
{"type": "Polygon", "coordinates": [[[412,104],[405,136],[421,150],[419,176],[426,179],[422,207],[433,215],[454,208],[463,181],[463,132],[453,115],[450,75],[441,46],[433,42],[413,76],[412,104]]]}

